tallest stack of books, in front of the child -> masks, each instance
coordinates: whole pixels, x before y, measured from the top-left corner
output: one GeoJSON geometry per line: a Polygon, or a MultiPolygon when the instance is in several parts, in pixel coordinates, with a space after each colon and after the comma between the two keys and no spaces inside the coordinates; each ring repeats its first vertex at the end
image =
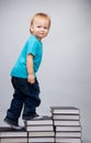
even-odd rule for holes
{"type": "Polygon", "coordinates": [[[50,107],[56,143],[81,143],[80,111],[75,107],[50,107]]]}

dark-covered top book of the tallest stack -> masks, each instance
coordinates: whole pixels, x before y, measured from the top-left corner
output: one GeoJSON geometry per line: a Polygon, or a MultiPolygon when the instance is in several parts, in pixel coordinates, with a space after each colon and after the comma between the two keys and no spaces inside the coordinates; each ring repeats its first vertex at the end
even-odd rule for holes
{"type": "Polygon", "coordinates": [[[80,110],[75,107],[50,107],[52,113],[79,114],[80,110]]]}

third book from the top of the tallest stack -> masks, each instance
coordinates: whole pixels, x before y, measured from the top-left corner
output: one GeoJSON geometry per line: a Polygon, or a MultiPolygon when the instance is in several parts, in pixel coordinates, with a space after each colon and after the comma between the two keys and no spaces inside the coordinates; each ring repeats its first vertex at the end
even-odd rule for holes
{"type": "Polygon", "coordinates": [[[80,125],[79,120],[55,120],[54,125],[80,125]]]}

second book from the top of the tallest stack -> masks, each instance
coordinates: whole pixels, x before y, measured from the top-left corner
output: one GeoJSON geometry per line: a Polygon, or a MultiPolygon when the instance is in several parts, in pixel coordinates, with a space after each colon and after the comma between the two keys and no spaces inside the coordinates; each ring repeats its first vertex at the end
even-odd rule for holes
{"type": "Polygon", "coordinates": [[[62,113],[55,113],[53,114],[54,120],[80,120],[79,114],[62,114],[62,113]]]}

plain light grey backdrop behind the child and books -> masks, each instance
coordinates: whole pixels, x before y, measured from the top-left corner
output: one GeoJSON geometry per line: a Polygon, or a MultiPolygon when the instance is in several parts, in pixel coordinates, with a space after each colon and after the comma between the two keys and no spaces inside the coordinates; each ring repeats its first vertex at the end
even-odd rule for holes
{"type": "Polygon", "coordinates": [[[50,114],[50,106],[79,108],[83,143],[91,143],[91,0],[0,0],[0,125],[5,125],[13,94],[10,72],[36,12],[52,18],[37,73],[42,98],[37,112],[50,114]]]}

